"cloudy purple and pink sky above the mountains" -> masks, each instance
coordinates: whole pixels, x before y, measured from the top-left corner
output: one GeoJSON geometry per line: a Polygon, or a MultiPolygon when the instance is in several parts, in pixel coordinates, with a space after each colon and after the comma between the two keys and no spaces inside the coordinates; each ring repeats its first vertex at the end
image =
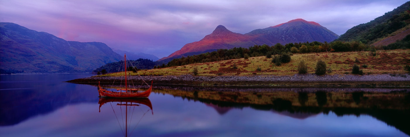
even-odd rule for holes
{"type": "Polygon", "coordinates": [[[303,18],[338,35],[407,0],[0,0],[0,22],[166,57],[217,25],[247,33],[303,18]]]}

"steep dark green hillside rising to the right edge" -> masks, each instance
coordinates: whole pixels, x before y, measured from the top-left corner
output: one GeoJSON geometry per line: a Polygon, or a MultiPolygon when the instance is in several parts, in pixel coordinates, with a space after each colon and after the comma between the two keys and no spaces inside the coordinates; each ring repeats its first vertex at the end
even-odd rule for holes
{"type": "Polygon", "coordinates": [[[361,41],[375,46],[386,46],[410,34],[410,1],[375,18],[352,27],[340,35],[339,41],[361,41]]]}

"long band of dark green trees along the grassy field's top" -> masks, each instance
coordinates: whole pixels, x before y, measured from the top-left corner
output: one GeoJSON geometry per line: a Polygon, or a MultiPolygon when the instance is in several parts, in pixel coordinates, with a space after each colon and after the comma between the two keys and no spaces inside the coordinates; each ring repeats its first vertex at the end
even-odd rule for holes
{"type": "Polygon", "coordinates": [[[192,55],[182,57],[179,59],[173,59],[168,64],[161,66],[154,66],[155,68],[169,67],[169,66],[183,66],[187,64],[204,63],[204,62],[216,62],[227,59],[239,59],[248,57],[260,57],[272,55],[283,55],[284,53],[319,53],[319,52],[347,52],[347,51],[367,51],[374,50],[373,46],[366,45],[358,41],[344,42],[333,41],[331,43],[321,43],[318,41],[304,42],[304,43],[287,43],[282,45],[277,43],[273,46],[254,45],[249,48],[231,48],[231,49],[219,49],[209,53],[203,53],[199,55],[192,55]]]}

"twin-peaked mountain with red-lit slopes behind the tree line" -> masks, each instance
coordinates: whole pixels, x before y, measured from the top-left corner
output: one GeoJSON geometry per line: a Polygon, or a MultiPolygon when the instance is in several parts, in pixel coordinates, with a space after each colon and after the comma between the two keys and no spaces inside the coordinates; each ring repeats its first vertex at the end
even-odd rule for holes
{"type": "Polygon", "coordinates": [[[180,50],[175,51],[168,57],[159,59],[159,61],[217,49],[247,48],[254,45],[274,45],[276,43],[286,44],[306,41],[331,42],[338,37],[337,34],[326,29],[326,27],[303,19],[295,19],[276,26],[253,30],[246,34],[231,32],[223,25],[219,25],[211,34],[205,36],[200,41],[188,43],[180,50]]]}

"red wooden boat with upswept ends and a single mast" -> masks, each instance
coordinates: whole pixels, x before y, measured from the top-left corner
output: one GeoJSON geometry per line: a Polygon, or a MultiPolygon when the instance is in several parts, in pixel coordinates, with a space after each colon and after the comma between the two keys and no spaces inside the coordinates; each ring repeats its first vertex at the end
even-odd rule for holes
{"type": "MultiPolygon", "coordinates": [[[[100,97],[112,97],[112,98],[148,98],[151,94],[151,90],[153,88],[153,82],[151,81],[151,86],[148,90],[144,92],[134,92],[138,91],[139,89],[128,89],[127,88],[127,61],[125,60],[124,54],[124,70],[125,70],[125,89],[116,89],[117,91],[108,91],[100,87],[100,82],[98,82],[98,94],[100,97]],[[125,91],[125,92],[122,92],[125,91]]],[[[144,81],[145,82],[145,81],[144,81]]]]}

